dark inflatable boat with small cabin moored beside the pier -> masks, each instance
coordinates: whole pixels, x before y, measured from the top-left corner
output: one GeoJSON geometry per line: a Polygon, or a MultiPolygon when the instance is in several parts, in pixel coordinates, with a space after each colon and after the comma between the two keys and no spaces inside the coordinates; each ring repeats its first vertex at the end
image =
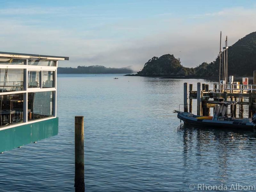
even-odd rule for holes
{"type": "Polygon", "coordinates": [[[178,113],[177,117],[184,123],[189,125],[203,126],[203,127],[219,127],[219,128],[234,128],[234,129],[253,129],[256,124],[256,114],[250,118],[235,118],[227,114],[227,107],[234,102],[212,102],[215,104],[213,117],[205,118],[205,116],[198,116],[188,112],[181,112],[174,110],[178,113]]]}

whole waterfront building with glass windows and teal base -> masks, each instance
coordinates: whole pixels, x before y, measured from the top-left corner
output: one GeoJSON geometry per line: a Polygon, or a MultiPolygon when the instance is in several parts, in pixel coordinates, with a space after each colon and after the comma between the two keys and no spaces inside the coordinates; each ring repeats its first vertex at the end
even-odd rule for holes
{"type": "Polygon", "coordinates": [[[58,60],[68,57],[0,52],[0,152],[58,133],[58,60]]]}

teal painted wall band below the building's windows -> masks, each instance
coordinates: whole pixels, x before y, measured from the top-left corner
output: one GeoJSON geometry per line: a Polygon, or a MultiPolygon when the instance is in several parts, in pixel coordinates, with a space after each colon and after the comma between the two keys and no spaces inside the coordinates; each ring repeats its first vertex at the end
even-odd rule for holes
{"type": "Polygon", "coordinates": [[[58,134],[59,118],[48,119],[0,131],[0,152],[58,134]]]}

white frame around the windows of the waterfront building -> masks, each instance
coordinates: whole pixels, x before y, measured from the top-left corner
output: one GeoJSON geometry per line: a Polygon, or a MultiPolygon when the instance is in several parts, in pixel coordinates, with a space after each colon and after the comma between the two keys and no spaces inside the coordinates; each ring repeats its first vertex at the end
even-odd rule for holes
{"type": "Polygon", "coordinates": [[[56,66],[38,66],[38,65],[27,65],[28,60],[25,60],[24,65],[12,65],[12,64],[0,64],[0,68],[6,69],[6,68],[13,68],[13,69],[25,69],[24,72],[24,82],[23,82],[23,91],[12,91],[12,92],[0,92],[0,95],[9,95],[9,94],[19,94],[23,93],[23,123],[17,123],[13,125],[7,125],[4,127],[0,127],[0,131],[4,129],[9,129],[12,127],[21,126],[24,124],[32,124],[35,122],[44,121],[47,119],[53,119],[57,117],[57,67],[58,67],[58,61],[56,62],[56,66]],[[28,71],[41,71],[41,77],[40,77],[40,88],[28,88],[28,71]],[[42,88],[42,71],[54,71],[55,79],[54,79],[54,87],[50,88],[42,88]],[[37,119],[33,121],[28,121],[28,93],[29,92],[46,92],[46,91],[53,91],[53,116],[52,117],[45,117],[42,119],[37,119]]]}

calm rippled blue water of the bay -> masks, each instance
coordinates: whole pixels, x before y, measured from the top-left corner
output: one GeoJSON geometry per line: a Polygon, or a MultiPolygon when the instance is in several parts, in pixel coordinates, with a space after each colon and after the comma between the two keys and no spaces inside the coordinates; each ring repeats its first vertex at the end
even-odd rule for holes
{"type": "Polygon", "coordinates": [[[59,135],[0,154],[0,191],[74,191],[76,115],[85,116],[86,191],[256,185],[255,133],[185,128],[172,113],[183,83],[198,81],[59,75],[59,135]]]}

